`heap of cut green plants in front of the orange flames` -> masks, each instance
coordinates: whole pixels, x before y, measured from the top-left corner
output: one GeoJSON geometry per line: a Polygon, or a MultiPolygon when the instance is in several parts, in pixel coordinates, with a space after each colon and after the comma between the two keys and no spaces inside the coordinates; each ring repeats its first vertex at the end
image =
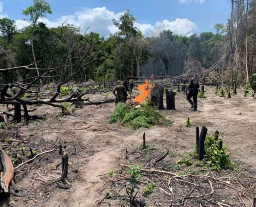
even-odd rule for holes
{"type": "Polygon", "coordinates": [[[121,122],[133,129],[150,128],[158,124],[171,125],[170,121],[149,104],[141,104],[140,107],[133,108],[124,103],[118,103],[109,118],[110,124],[121,122]]]}

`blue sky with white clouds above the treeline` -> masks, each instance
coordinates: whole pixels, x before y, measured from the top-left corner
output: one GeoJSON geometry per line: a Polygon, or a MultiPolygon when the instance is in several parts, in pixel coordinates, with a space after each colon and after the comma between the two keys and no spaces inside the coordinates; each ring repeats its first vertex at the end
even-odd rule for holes
{"type": "MultiPolygon", "coordinates": [[[[175,34],[190,35],[214,31],[216,23],[226,23],[230,14],[228,0],[48,0],[52,15],[41,19],[47,26],[68,23],[108,36],[117,31],[111,19],[118,19],[126,9],[136,18],[136,26],[145,37],[157,36],[163,29],[175,34]]],[[[16,20],[18,28],[29,22],[22,21],[22,9],[32,0],[0,0],[0,18],[16,20]]]]}

